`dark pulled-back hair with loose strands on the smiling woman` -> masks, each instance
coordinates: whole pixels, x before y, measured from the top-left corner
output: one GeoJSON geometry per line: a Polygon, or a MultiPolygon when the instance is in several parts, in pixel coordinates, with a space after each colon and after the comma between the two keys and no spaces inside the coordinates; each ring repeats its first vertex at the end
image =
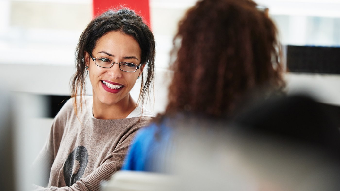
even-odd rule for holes
{"type": "Polygon", "coordinates": [[[71,96],[74,97],[74,110],[77,114],[77,95],[86,92],[85,79],[87,70],[85,69],[85,52],[92,53],[97,40],[110,31],[121,31],[132,36],[139,44],[141,50],[141,64],[146,64],[148,74],[146,81],[141,75],[141,88],[138,102],[141,104],[146,96],[150,94],[150,88],[154,83],[155,65],[155,39],[150,28],[143,22],[142,18],[133,11],[123,8],[118,11],[108,10],[92,20],[83,33],[80,35],[75,52],[76,72],[71,79],[71,96]]]}

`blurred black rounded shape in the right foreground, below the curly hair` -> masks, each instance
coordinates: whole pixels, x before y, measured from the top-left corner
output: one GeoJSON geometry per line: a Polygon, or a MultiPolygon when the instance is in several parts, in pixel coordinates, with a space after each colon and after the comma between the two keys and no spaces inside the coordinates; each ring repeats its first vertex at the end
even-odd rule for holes
{"type": "Polygon", "coordinates": [[[340,131],[335,110],[311,97],[294,95],[258,103],[236,122],[253,134],[307,144],[338,158],[340,131]]]}

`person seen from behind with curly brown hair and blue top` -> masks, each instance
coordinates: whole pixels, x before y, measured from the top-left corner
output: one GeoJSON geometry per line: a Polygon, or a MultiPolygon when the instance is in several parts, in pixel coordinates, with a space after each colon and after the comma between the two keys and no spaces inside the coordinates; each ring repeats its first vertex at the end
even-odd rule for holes
{"type": "Polygon", "coordinates": [[[245,100],[280,93],[276,36],[273,21],[251,0],[203,0],[190,8],[173,40],[166,111],[137,134],[123,170],[167,171],[168,142],[181,121],[232,119],[245,100]]]}

